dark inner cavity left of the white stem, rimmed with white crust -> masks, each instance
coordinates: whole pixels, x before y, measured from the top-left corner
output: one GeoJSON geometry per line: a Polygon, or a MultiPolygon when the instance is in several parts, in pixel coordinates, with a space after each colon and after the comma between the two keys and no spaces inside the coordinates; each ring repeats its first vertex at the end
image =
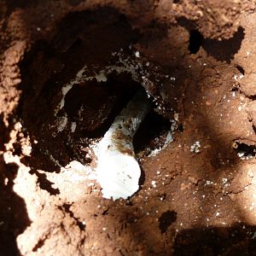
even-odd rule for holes
{"type": "Polygon", "coordinates": [[[111,73],[106,82],[92,79],[73,85],[64,108],[68,119],[77,123],[74,137],[102,137],[140,86],[130,73],[111,73]]]}

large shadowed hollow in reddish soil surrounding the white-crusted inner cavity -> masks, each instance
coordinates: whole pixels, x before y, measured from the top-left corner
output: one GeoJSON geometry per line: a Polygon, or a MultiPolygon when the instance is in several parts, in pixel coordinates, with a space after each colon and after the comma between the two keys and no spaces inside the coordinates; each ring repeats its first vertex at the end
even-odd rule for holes
{"type": "MultiPolygon", "coordinates": [[[[154,32],[166,32],[152,26],[154,32]]],[[[23,94],[18,115],[37,142],[31,156],[23,159],[26,165],[59,172],[71,160],[90,164],[91,144],[108,131],[141,87],[133,77],[137,65],[126,58],[137,38],[138,32],[114,9],[75,12],[61,21],[50,44],[38,42],[26,55],[20,68],[23,94]]],[[[135,149],[159,148],[170,128],[169,120],[152,111],[137,131],[135,149]]],[[[41,181],[41,189],[57,193],[41,181]]]]}

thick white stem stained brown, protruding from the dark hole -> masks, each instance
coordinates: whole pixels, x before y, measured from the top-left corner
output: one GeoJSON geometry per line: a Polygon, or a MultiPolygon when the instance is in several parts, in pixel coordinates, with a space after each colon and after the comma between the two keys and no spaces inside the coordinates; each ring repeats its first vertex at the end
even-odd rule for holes
{"type": "Polygon", "coordinates": [[[103,197],[126,199],[139,189],[141,169],[132,141],[149,109],[145,92],[139,90],[98,144],[96,175],[103,197]]]}

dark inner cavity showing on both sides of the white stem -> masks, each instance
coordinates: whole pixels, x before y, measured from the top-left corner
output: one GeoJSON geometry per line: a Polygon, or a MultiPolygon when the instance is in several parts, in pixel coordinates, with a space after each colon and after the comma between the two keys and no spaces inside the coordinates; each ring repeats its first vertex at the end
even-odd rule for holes
{"type": "MultiPolygon", "coordinates": [[[[68,119],[77,124],[72,141],[77,143],[77,146],[70,145],[67,148],[72,158],[79,160],[78,155],[83,157],[80,148],[89,146],[87,139],[104,136],[115,117],[140,87],[141,85],[131,78],[130,73],[111,73],[106,82],[93,79],[84,84],[73,85],[73,89],[65,97],[64,106],[68,119]],[[81,143],[81,138],[84,138],[84,143],[81,143]]],[[[155,113],[152,108],[134,137],[135,151],[162,146],[157,138],[161,133],[169,131],[170,126],[169,120],[155,113]]]]}

